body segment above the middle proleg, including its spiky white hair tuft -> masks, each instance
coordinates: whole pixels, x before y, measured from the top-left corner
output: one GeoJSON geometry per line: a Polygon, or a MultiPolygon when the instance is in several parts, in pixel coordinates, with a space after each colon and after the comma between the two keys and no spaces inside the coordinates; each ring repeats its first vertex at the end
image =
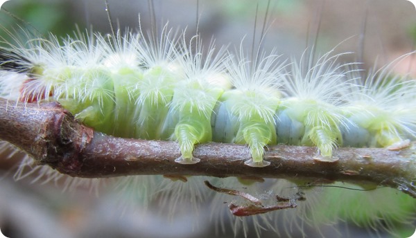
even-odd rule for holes
{"type": "Polygon", "coordinates": [[[252,159],[245,164],[252,167],[269,165],[263,160],[264,147],[277,143],[273,118],[281,97],[279,79],[285,73],[284,62],[278,60],[279,55],[272,53],[250,61],[240,48],[239,55],[227,62],[235,88],[220,98],[216,123],[224,130],[214,129],[220,132],[215,138],[248,145],[252,159]],[[220,118],[225,122],[218,122],[220,118]]]}

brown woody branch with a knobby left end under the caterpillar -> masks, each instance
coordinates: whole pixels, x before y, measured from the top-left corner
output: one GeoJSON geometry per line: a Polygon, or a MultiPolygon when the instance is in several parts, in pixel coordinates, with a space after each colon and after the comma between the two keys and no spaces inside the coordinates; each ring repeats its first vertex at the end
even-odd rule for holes
{"type": "Polygon", "coordinates": [[[249,167],[245,145],[196,146],[196,165],[175,163],[177,143],[107,136],[77,122],[56,102],[22,104],[0,98],[0,139],[19,147],[62,174],[85,178],[165,174],[241,176],[375,183],[416,198],[416,149],[339,148],[334,163],[315,161],[314,147],[275,145],[266,149],[267,167],[249,167]]]}

